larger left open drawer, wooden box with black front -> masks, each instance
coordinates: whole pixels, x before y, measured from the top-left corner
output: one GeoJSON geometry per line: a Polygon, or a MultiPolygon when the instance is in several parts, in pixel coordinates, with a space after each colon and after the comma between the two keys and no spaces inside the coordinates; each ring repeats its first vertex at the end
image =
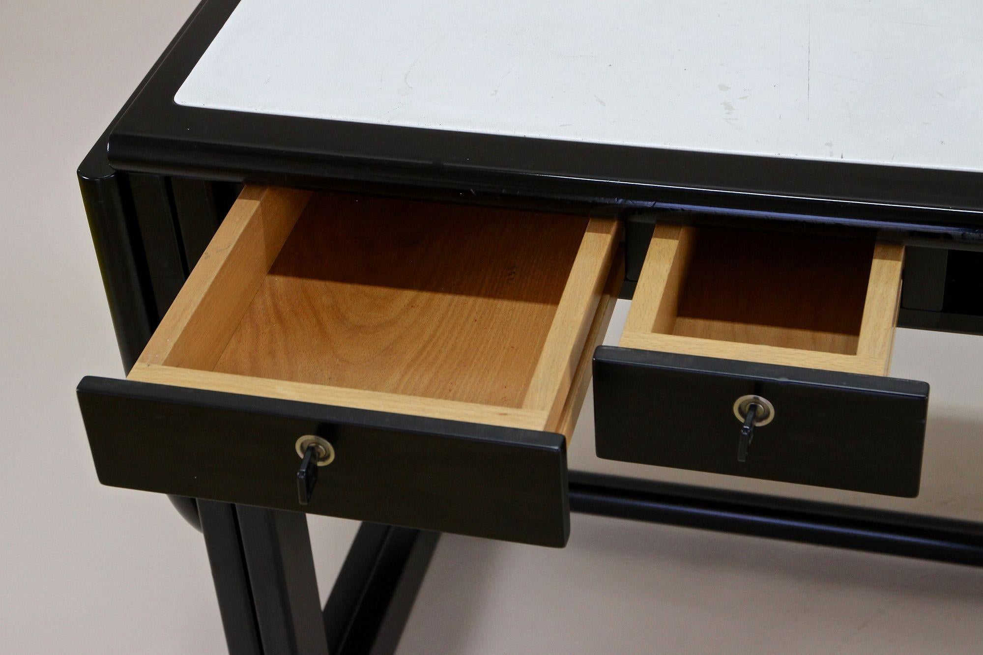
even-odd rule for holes
{"type": "Polygon", "coordinates": [[[127,381],[80,385],[99,479],[562,546],[618,241],[610,219],[247,187],[127,381]],[[314,437],[333,460],[302,505],[314,437]]]}

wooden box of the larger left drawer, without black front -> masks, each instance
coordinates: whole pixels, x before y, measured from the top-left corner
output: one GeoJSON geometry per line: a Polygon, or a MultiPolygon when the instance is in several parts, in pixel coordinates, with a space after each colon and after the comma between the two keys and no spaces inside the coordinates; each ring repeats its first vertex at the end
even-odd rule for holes
{"type": "Polygon", "coordinates": [[[618,229],[247,187],[129,379],[569,436],[618,229]]]}

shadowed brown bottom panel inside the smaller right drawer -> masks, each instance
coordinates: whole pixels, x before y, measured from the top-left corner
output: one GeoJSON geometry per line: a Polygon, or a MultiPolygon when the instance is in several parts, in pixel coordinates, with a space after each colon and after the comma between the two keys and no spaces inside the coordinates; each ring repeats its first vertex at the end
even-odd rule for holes
{"type": "Polygon", "coordinates": [[[873,240],[703,229],[671,332],[855,354],[873,240]]]}

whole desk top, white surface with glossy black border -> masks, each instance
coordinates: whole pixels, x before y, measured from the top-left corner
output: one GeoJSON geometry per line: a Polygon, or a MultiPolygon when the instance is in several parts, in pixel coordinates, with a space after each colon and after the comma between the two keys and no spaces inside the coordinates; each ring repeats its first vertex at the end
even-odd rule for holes
{"type": "Polygon", "coordinates": [[[979,245],[981,33],[975,0],[202,0],[107,152],[979,245]]]}

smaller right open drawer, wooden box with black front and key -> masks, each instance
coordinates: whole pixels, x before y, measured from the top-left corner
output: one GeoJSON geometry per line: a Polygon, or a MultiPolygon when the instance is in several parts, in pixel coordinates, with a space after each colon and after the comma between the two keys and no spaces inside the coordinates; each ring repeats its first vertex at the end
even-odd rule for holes
{"type": "Polygon", "coordinates": [[[885,377],[903,252],[658,225],[595,355],[598,456],[916,496],[928,385],[885,377]]]}

